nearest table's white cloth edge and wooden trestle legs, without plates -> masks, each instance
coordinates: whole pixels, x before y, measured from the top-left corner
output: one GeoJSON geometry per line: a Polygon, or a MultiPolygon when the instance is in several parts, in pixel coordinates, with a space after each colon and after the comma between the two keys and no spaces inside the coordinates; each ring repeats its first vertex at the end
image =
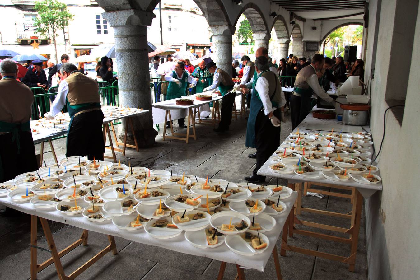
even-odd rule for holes
{"type": "Polygon", "coordinates": [[[110,220],[105,220],[104,222],[91,222],[84,218],[81,214],[77,215],[63,215],[62,213],[58,212],[53,209],[41,209],[35,208],[32,204],[28,202],[19,203],[11,200],[8,197],[1,197],[0,203],[4,204],[7,207],[11,207],[18,211],[24,212],[26,214],[32,215],[31,218],[31,278],[36,279],[37,272],[41,271],[48,265],[54,263],[58,276],[60,279],[74,279],[77,275],[81,274],[84,270],[86,270],[89,266],[95,263],[98,259],[102,256],[107,254],[108,252],[112,251],[113,254],[117,254],[117,250],[115,247],[115,240],[114,236],[122,237],[127,240],[135,241],[138,243],[144,243],[152,246],[159,246],[165,249],[170,249],[173,251],[177,251],[184,254],[190,254],[194,256],[205,256],[210,259],[215,259],[221,261],[221,266],[219,270],[218,279],[223,278],[223,273],[226,267],[226,263],[234,263],[236,264],[239,279],[245,279],[244,276],[244,268],[245,269],[255,269],[259,271],[264,271],[265,265],[270,258],[270,255],[273,254],[275,260],[275,267],[276,267],[276,274],[277,279],[281,278],[281,270],[280,264],[278,262],[278,255],[277,255],[277,248],[276,248],[276,241],[280,236],[281,228],[286,223],[289,217],[289,212],[293,208],[293,204],[296,201],[297,192],[293,191],[291,195],[286,198],[282,199],[286,204],[286,209],[283,213],[280,213],[276,216],[272,216],[276,220],[276,225],[274,228],[265,233],[265,236],[269,239],[268,248],[260,254],[256,254],[254,256],[241,256],[235,254],[228,246],[223,243],[218,247],[211,248],[211,249],[199,249],[192,246],[188,241],[186,241],[184,233],[180,235],[170,238],[170,239],[155,239],[149,236],[145,231],[144,228],[134,231],[127,231],[121,230],[117,228],[110,220]],[[44,230],[47,243],[49,248],[44,249],[37,246],[37,219],[41,221],[42,228],[44,230]],[[68,246],[63,251],[58,252],[57,248],[55,247],[54,239],[50,231],[50,227],[48,225],[47,220],[52,220],[56,222],[62,222],[68,225],[75,226],[77,228],[83,229],[81,238],[78,241],[68,246]],[[60,261],[60,257],[64,256],[71,250],[75,249],[77,246],[83,244],[84,246],[87,245],[88,241],[88,231],[94,231],[97,233],[106,234],[109,238],[109,245],[105,247],[102,251],[100,251],[97,255],[92,257],[88,262],[83,264],[79,269],[71,273],[70,275],[65,275],[63,271],[63,266],[60,261]],[[51,258],[45,261],[42,264],[37,264],[37,249],[42,249],[49,251],[51,253],[51,258]]]}

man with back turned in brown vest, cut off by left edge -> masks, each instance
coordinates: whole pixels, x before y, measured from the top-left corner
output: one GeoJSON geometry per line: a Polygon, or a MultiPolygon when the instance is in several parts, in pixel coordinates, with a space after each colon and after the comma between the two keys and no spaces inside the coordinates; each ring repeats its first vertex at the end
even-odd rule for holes
{"type": "MultiPolygon", "coordinates": [[[[0,63],[0,183],[38,169],[29,120],[34,94],[16,80],[18,65],[7,59],[0,63]]],[[[1,185],[1,184],[0,184],[1,185]]],[[[12,216],[10,208],[0,215],[12,216]]]]}

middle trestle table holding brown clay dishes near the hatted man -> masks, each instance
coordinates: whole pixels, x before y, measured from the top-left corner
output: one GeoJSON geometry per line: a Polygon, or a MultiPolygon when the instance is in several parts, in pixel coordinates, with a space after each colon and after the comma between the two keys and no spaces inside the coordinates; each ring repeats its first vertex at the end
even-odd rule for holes
{"type": "MultiPolygon", "coordinates": [[[[188,144],[188,140],[189,140],[190,137],[193,137],[194,140],[196,140],[195,114],[196,114],[197,110],[199,110],[198,108],[201,107],[202,105],[208,104],[210,102],[214,102],[213,121],[215,122],[215,118],[216,118],[215,115],[218,112],[218,108],[219,108],[219,100],[222,99],[222,96],[213,97],[211,100],[208,100],[208,101],[199,101],[199,100],[193,99],[194,100],[193,105],[176,105],[176,102],[175,102],[176,99],[179,99],[179,98],[169,99],[169,100],[165,100],[165,101],[152,103],[152,107],[165,110],[165,123],[164,123],[165,128],[163,128],[163,140],[165,140],[166,138],[176,139],[176,140],[184,140],[185,143],[188,144]],[[193,112],[192,108],[194,108],[194,112],[193,112]],[[171,110],[174,110],[174,111],[188,110],[188,114],[187,114],[188,117],[187,117],[187,122],[186,122],[186,134],[173,132],[171,110]],[[170,127],[171,127],[171,136],[166,135],[166,123],[168,122],[168,116],[169,116],[169,124],[170,124],[170,127]],[[189,132],[190,126],[192,126],[192,131],[193,131],[192,134],[190,134],[190,132],[189,132]]],[[[199,122],[201,123],[202,120],[201,120],[201,118],[199,118],[199,119],[200,119],[199,122]]]]}

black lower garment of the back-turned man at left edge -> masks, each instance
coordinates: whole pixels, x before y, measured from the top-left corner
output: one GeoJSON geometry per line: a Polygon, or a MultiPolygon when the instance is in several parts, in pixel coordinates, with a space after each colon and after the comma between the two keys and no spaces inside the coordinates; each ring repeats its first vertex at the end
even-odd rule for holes
{"type": "Polygon", "coordinates": [[[12,142],[12,133],[0,135],[0,156],[4,174],[4,178],[0,178],[0,182],[9,181],[21,173],[38,169],[32,133],[21,131],[19,136],[20,150],[18,151],[16,141],[12,142]]]}

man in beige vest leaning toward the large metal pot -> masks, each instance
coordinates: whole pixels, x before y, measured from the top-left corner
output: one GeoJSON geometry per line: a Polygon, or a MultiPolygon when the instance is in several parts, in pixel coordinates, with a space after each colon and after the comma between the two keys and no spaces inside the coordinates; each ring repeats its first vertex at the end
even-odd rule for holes
{"type": "Polygon", "coordinates": [[[291,129],[297,128],[312,110],[312,93],[326,102],[335,101],[319,85],[316,73],[323,69],[325,58],[316,54],[311,65],[302,68],[296,76],[294,91],[290,97],[291,129]]]}

